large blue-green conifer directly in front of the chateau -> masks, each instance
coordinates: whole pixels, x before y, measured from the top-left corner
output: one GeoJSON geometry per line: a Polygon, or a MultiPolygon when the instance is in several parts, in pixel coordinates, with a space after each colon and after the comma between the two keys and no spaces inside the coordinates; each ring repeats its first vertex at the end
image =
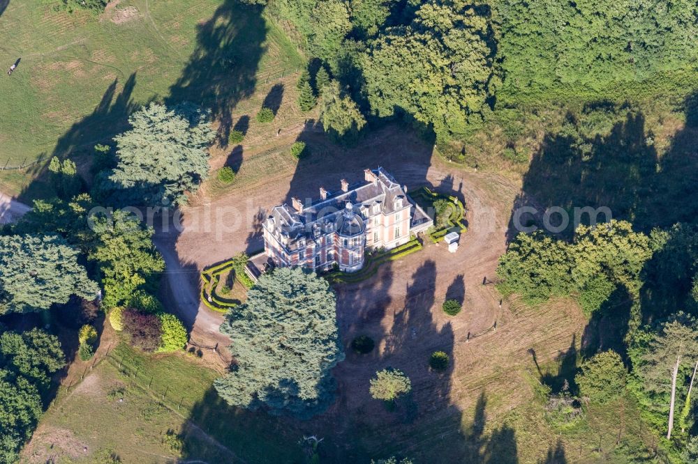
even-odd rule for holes
{"type": "Polygon", "coordinates": [[[331,369],[343,359],[334,293],[301,268],[262,274],[221,332],[237,366],[215,382],[231,405],[310,417],[332,400],[331,369]]]}

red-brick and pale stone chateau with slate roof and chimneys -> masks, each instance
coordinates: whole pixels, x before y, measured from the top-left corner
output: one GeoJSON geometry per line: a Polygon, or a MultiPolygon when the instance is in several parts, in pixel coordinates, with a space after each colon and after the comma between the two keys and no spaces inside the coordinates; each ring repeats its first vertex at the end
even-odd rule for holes
{"type": "Polygon", "coordinates": [[[337,192],[320,187],[319,199],[291,203],[276,206],[262,223],[265,253],[277,266],[327,270],[336,263],[353,272],[364,265],[366,249],[403,245],[433,225],[407,187],[380,167],[366,169],[363,182],[341,180],[337,192]]]}

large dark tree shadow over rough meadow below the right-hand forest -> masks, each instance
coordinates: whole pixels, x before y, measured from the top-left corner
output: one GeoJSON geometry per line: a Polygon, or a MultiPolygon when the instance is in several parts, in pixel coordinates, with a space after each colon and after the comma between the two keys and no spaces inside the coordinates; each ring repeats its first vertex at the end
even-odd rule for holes
{"type": "MultiPolygon", "coordinates": [[[[698,217],[698,96],[683,103],[685,126],[661,156],[645,117],[628,105],[589,106],[579,116],[568,115],[563,130],[547,134],[523,179],[519,203],[544,210],[559,206],[610,208],[640,231],[667,228],[676,222],[695,223],[698,217]],[[602,114],[603,116],[600,116],[602,114]],[[609,134],[599,135],[598,118],[620,120],[609,134]]],[[[542,211],[541,211],[542,213],[542,211]]],[[[512,212],[513,219],[513,212],[512,212]]],[[[588,224],[588,215],[581,217],[588,224]]],[[[572,233],[573,222],[565,230],[572,233]]],[[[510,228],[510,240],[517,231],[510,228]]]]}

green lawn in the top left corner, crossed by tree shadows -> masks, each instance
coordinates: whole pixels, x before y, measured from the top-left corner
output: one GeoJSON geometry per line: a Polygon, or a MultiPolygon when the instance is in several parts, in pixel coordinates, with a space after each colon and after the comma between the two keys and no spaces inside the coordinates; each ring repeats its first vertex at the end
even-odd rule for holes
{"type": "MultiPolygon", "coordinates": [[[[302,67],[283,33],[231,0],[113,3],[71,15],[13,0],[0,15],[0,63],[21,58],[0,79],[2,167],[108,141],[151,100],[193,100],[235,123],[239,102],[302,67]]],[[[36,169],[28,173],[3,173],[0,189],[20,192],[36,169]]]]}

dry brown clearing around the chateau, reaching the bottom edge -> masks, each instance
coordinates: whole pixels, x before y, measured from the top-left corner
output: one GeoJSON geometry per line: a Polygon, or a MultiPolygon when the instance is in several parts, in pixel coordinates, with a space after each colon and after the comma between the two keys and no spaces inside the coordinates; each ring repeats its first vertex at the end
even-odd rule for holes
{"type": "MultiPolygon", "coordinates": [[[[220,156],[212,164],[221,163],[220,156]]],[[[239,174],[232,185],[209,180],[184,210],[184,231],[157,235],[158,247],[170,256],[168,287],[176,289],[170,304],[193,323],[193,340],[201,346],[230,343],[216,330],[222,316],[198,302],[181,304],[177,295],[185,288],[197,294],[198,272],[206,265],[259,249],[262,211],[291,195],[315,197],[320,185],[336,190],[341,178],[351,183],[362,178],[366,167],[382,165],[408,188],[429,185],[455,194],[468,209],[468,232],[455,254],[427,241],[424,250],[383,265],[370,279],[337,287],[344,346],[357,334],[368,334],[378,349],[366,356],[348,352],[334,371],[339,398],[325,414],[303,423],[278,419],[298,430],[299,438],[305,431],[320,433],[329,462],[390,454],[416,462],[433,456],[443,462],[463,456],[491,462],[518,456],[531,462],[565,449],[583,461],[624,462],[628,456],[653,454],[651,431],[642,428],[632,399],[618,405],[620,419],[618,410],[592,409],[581,425],[560,428],[542,417],[540,378],[569,375],[563,366],[578,362],[587,321],[569,300],[537,308],[514,300],[500,307],[493,280],[520,192],[517,183],[455,167],[396,127],[372,134],[355,148],[341,148],[306,125],[266,146],[244,146],[238,156],[239,174]],[[297,161],[290,155],[296,139],[309,144],[310,157],[297,161]],[[443,314],[447,296],[464,302],[461,314],[443,314]],[[434,350],[450,355],[447,373],[429,371],[434,350]],[[369,378],[385,366],[403,369],[413,382],[410,399],[397,412],[385,411],[369,397],[369,378]],[[601,451],[596,431],[607,432],[601,451]]],[[[225,431],[214,435],[228,443],[225,431]]]]}

